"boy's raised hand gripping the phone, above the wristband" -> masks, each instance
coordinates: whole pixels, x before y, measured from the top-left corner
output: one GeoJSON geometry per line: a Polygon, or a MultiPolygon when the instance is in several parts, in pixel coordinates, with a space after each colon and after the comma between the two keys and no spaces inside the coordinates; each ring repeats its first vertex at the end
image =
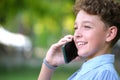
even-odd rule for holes
{"type": "Polygon", "coordinates": [[[72,39],[72,35],[67,35],[50,47],[46,55],[46,60],[50,65],[59,66],[65,64],[61,47],[65,43],[72,41],[72,39]]]}

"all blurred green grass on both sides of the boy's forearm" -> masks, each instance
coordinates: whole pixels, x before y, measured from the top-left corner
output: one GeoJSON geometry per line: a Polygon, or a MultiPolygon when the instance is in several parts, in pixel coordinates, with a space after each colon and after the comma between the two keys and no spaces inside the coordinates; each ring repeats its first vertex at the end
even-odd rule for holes
{"type": "MultiPolygon", "coordinates": [[[[52,77],[52,80],[67,80],[75,69],[61,67],[58,68],[52,77]]],[[[0,80],[37,80],[40,68],[0,68],[0,80]]]]}

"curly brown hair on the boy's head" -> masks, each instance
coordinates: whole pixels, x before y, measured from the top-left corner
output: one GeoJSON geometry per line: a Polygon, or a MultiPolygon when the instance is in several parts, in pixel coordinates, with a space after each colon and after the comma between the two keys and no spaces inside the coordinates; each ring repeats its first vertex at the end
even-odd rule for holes
{"type": "Polygon", "coordinates": [[[73,7],[74,13],[84,10],[88,14],[98,15],[108,26],[117,27],[117,35],[113,39],[113,46],[120,38],[120,3],[113,0],[76,0],[73,7]]]}

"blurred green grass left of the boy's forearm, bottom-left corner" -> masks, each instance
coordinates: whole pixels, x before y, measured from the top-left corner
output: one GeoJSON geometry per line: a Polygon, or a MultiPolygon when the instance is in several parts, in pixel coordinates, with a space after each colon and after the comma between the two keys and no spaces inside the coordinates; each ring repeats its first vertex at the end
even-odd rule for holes
{"type": "Polygon", "coordinates": [[[0,70],[0,80],[37,80],[39,69],[14,68],[0,70]]]}

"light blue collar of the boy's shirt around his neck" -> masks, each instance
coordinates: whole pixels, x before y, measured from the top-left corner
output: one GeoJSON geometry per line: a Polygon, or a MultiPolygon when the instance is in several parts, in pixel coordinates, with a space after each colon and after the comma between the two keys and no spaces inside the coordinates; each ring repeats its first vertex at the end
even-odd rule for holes
{"type": "Polygon", "coordinates": [[[95,58],[92,58],[88,61],[86,61],[81,69],[80,69],[80,73],[81,75],[87,73],[88,71],[96,68],[96,67],[99,67],[103,64],[107,64],[107,63],[111,63],[113,64],[114,63],[114,55],[112,54],[104,54],[104,55],[101,55],[101,56],[97,56],[95,58]]]}

